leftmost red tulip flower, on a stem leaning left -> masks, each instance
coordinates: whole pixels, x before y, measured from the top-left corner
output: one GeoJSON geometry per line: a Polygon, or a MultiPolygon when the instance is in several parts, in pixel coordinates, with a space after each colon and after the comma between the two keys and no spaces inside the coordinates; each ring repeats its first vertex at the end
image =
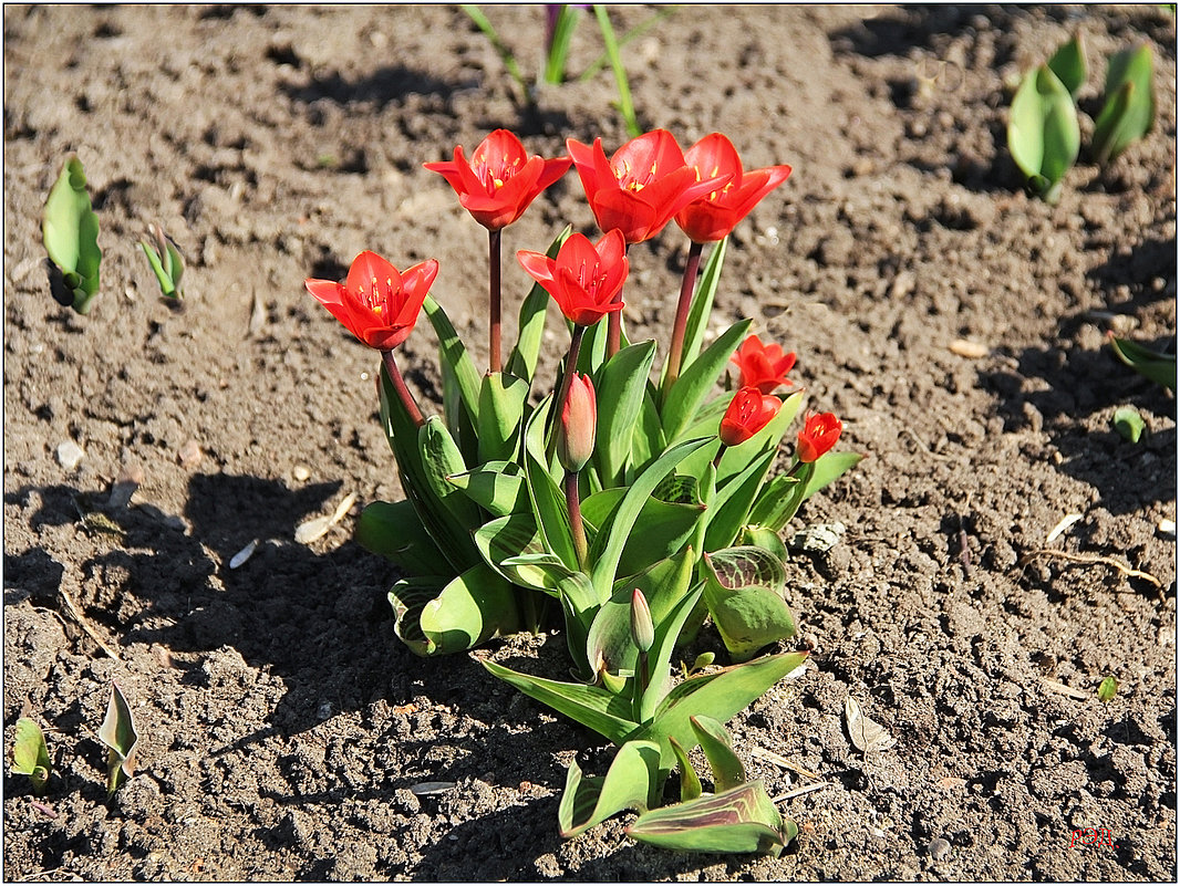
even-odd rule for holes
{"type": "Polygon", "coordinates": [[[366,251],[353,261],[346,282],[307,280],[303,286],[365,344],[388,352],[414,330],[438,273],[433,258],[399,273],[376,252],[366,251]]]}

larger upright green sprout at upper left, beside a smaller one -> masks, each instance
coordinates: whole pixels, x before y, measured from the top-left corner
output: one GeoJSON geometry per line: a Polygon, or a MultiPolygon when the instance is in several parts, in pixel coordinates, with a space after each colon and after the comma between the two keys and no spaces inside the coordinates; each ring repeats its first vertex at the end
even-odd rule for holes
{"type": "Polygon", "coordinates": [[[77,157],[68,157],[61,175],[50,190],[41,224],[45,250],[61,273],[63,293],[54,297],[79,314],[90,310],[98,293],[98,216],[90,205],[86,173],[77,157]]]}

